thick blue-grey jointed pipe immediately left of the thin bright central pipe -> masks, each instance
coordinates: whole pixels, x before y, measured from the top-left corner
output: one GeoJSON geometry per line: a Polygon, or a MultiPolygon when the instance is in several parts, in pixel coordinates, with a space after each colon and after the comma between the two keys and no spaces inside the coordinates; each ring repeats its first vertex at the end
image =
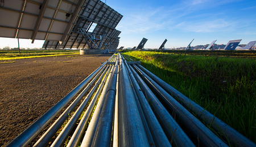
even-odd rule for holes
{"type": "Polygon", "coordinates": [[[92,146],[110,146],[114,116],[115,92],[117,87],[117,70],[119,59],[115,61],[114,73],[110,79],[100,119],[93,137],[92,146]]]}

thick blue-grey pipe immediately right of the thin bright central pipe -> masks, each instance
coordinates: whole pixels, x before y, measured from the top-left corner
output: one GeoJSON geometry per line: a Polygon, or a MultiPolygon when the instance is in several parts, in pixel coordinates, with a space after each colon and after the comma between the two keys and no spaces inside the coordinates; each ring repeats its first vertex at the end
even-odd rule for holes
{"type": "Polygon", "coordinates": [[[120,146],[150,146],[148,144],[146,132],[144,131],[141,116],[125,64],[119,55],[119,101],[120,101],[120,146]]]}

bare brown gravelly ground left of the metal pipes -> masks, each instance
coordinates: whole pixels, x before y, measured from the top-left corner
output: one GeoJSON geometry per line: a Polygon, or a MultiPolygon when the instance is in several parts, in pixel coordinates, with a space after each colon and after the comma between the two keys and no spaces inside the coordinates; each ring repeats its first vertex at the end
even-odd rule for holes
{"type": "Polygon", "coordinates": [[[0,146],[18,136],[111,55],[63,55],[0,64],[0,146]]]}

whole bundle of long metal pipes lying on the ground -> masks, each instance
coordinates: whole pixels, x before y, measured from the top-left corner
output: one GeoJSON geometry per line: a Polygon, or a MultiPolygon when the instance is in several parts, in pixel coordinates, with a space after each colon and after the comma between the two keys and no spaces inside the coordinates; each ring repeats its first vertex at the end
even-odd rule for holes
{"type": "Polygon", "coordinates": [[[34,146],[47,146],[69,114],[51,146],[68,137],[67,146],[256,146],[135,63],[113,55],[7,146],[28,145],[73,99],[34,146]]]}

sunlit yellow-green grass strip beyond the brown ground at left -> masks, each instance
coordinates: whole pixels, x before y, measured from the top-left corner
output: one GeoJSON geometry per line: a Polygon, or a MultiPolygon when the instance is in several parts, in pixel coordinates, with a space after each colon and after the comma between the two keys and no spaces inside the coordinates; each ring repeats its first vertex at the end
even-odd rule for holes
{"type": "Polygon", "coordinates": [[[79,54],[79,50],[0,50],[0,60],[51,57],[56,55],[79,54]]]}

